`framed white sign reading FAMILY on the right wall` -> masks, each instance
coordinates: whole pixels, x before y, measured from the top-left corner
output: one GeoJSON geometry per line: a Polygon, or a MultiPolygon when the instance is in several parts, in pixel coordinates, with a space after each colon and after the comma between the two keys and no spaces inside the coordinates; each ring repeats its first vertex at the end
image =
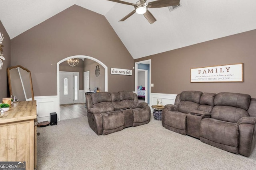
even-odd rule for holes
{"type": "Polygon", "coordinates": [[[191,68],[190,82],[243,82],[243,63],[191,68]]]}

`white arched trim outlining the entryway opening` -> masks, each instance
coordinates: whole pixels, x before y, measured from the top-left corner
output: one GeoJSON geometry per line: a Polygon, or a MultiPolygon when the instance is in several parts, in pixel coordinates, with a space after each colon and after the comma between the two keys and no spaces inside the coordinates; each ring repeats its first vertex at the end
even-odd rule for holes
{"type": "MultiPolygon", "coordinates": [[[[57,112],[60,113],[60,63],[63,63],[64,61],[67,61],[68,59],[73,59],[73,58],[78,58],[78,59],[90,59],[93,61],[96,61],[97,63],[99,63],[100,65],[102,65],[105,68],[105,92],[108,91],[108,67],[102,63],[101,61],[99,61],[98,59],[95,59],[93,57],[90,56],[86,56],[86,55],[74,55],[74,56],[70,56],[67,57],[65,59],[62,59],[61,61],[59,61],[57,63],[57,98],[58,98],[58,109],[57,112]]],[[[60,114],[59,114],[59,120],[60,120],[60,114]]]]}

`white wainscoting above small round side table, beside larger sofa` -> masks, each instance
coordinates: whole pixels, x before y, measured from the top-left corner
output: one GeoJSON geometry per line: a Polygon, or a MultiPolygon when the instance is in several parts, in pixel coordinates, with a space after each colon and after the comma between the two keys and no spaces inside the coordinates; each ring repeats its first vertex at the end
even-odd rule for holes
{"type": "Polygon", "coordinates": [[[177,94],[150,93],[150,104],[157,105],[157,100],[162,99],[162,105],[174,104],[177,94]]]}

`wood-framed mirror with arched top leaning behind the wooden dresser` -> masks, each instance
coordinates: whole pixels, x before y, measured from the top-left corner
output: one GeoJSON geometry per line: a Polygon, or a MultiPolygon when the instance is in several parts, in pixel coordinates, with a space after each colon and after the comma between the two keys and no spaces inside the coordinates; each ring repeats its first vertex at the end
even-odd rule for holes
{"type": "Polygon", "coordinates": [[[34,91],[31,72],[17,65],[7,68],[10,96],[16,96],[18,101],[34,101],[34,91]]]}

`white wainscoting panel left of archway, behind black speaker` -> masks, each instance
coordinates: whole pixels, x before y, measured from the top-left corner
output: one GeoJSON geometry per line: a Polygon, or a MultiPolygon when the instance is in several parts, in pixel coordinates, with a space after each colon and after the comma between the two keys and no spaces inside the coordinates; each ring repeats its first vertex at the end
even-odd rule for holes
{"type": "Polygon", "coordinates": [[[59,117],[59,105],[57,96],[35,96],[38,122],[50,121],[50,113],[56,112],[59,117]]]}

